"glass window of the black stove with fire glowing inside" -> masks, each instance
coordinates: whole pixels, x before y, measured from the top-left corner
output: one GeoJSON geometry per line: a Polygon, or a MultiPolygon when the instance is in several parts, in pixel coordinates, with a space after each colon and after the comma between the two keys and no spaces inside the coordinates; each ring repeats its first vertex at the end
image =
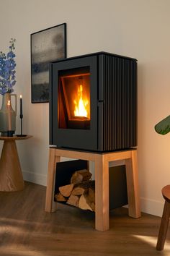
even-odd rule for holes
{"type": "Polygon", "coordinates": [[[59,128],[90,129],[90,73],[63,71],[59,75],[59,128]]]}

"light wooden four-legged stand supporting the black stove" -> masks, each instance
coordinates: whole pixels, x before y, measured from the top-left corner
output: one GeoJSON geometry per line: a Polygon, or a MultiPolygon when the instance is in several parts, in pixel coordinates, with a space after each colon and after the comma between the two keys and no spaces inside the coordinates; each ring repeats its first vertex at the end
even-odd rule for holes
{"type": "Polygon", "coordinates": [[[95,163],[95,229],[109,229],[109,162],[125,160],[128,187],[129,216],[140,217],[140,199],[138,191],[138,162],[137,150],[122,150],[112,153],[92,153],[60,148],[50,148],[48,163],[48,182],[46,190],[45,211],[52,213],[56,210],[54,202],[56,163],[62,157],[76,158],[95,163]]]}

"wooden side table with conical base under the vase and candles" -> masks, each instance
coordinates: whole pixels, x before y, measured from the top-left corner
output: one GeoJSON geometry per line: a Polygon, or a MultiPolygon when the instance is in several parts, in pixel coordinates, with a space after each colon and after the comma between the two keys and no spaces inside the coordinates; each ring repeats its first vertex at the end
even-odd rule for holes
{"type": "Polygon", "coordinates": [[[27,140],[32,137],[0,137],[4,145],[0,159],[0,191],[18,191],[24,189],[22,169],[19,163],[16,140],[27,140]]]}

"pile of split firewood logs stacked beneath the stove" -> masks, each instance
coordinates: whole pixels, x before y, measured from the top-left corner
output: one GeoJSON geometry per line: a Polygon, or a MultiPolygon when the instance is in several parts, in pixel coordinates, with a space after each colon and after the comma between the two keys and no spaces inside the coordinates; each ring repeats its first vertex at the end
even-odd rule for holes
{"type": "Polygon", "coordinates": [[[95,211],[95,182],[91,180],[91,175],[88,170],[75,171],[71,176],[71,183],[59,187],[55,200],[83,210],[95,211]]]}

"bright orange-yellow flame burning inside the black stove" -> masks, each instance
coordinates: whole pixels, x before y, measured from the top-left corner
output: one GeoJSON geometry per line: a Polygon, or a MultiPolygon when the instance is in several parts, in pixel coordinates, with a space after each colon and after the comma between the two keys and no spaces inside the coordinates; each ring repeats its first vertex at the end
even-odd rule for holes
{"type": "Polygon", "coordinates": [[[77,90],[77,100],[74,100],[74,116],[84,116],[87,117],[87,105],[89,101],[83,98],[83,85],[78,86],[77,90]]]}

